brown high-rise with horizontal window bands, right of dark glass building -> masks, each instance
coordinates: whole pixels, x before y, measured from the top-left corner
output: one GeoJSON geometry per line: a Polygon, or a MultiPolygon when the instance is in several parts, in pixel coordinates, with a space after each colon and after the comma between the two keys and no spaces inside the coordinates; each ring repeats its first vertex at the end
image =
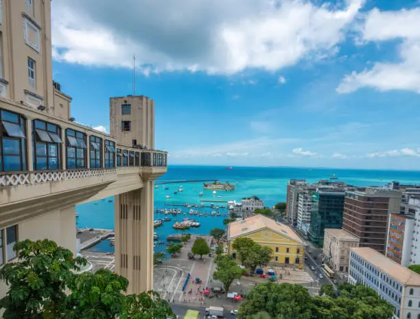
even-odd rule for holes
{"type": "Polygon", "coordinates": [[[385,254],[389,215],[399,213],[401,192],[369,188],[348,191],[342,228],[360,239],[360,247],[385,254]]]}

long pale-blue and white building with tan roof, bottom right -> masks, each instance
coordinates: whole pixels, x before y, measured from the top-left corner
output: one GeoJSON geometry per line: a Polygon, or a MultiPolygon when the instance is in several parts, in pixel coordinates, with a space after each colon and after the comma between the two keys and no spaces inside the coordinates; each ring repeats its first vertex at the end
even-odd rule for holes
{"type": "Polygon", "coordinates": [[[349,283],[375,290],[395,307],[393,319],[420,318],[420,274],[367,247],[351,248],[349,265],[349,283]]]}

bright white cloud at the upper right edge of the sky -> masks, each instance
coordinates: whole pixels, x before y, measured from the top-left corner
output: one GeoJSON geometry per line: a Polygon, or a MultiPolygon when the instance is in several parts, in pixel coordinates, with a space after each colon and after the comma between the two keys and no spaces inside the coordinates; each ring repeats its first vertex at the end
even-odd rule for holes
{"type": "Polygon", "coordinates": [[[406,90],[420,93],[420,8],[367,14],[362,29],[364,41],[401,39],[399,62],[375,62],[371,69],[345,75],[337,88],[350,93],[362,87],[379,91],[406,90]]]}

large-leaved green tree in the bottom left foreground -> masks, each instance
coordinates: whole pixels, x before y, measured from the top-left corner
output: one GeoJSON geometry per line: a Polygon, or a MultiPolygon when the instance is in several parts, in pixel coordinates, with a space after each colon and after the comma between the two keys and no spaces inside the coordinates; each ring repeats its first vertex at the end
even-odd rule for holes
{"type": "Polygon", "coordinates": [[[86,259],[47,239],[20,241],[19,259],[0,268],[8,292],[3,318],[166,319],[174,316],[155,292],[126,295],[128,280],[110,270],[78,274],[86,259]],[[153,296],[154,300],[151,298],[153,296]]]}

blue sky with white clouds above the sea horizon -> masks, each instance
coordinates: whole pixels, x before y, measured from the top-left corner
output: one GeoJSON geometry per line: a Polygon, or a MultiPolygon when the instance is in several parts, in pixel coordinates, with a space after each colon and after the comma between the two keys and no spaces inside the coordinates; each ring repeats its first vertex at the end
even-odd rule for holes
{"type": "Polygon", "coordinates": [[[155,101],[170,164],[420,169],[420,1],[51,1],[76,121],[155,101]]]}

